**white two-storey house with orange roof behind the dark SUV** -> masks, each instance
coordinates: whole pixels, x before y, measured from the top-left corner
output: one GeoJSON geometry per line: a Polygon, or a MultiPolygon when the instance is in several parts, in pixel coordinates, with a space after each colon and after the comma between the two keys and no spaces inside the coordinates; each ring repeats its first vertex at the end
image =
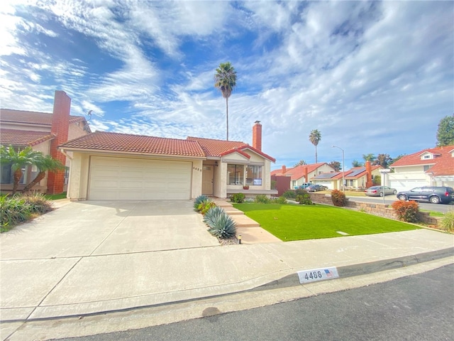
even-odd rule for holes
{"type": "Polygon", "coordinates": [[[454,188],[454,145],[402,156],[389,168],[394,173],[388,173],[387,185],[398,191],[431,185],[454,188]]]}

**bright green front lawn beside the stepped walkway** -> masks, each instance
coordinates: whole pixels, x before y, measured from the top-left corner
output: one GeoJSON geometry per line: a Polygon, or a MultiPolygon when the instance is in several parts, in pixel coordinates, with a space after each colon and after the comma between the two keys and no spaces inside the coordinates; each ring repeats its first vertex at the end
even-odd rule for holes
{"type": "Polygon", "coordinates": [[[236,204],[235,208],[283,241],[418,229],[415,225],[328,205],[236,204]]]}

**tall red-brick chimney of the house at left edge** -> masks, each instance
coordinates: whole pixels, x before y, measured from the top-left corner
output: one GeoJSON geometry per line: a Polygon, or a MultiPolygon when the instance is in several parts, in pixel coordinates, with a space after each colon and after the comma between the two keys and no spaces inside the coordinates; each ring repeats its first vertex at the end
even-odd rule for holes
{"type": "MultiPolygon", "coordinates": [[[[54,110],[50,132],[55,134],[55,139],[50,141],[50,156],[66,163],[66,157],[57,150],[60,144],[68,141],[70,127],[71,98],[64,91],[55,91],[54,110]]],[[[65,171],[48,173],[48,194],[60,194],[65,185],[65,171]]]]}

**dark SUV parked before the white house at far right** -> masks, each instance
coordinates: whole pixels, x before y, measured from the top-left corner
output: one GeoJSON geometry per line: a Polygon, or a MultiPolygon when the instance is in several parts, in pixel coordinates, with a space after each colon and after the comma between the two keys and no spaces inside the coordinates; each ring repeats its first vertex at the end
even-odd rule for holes
{"type": "Polygon", "coordinates": [[[428,201],[433,204],[449,204],[454,201],[454,189],[450,187],[424,186],[397,193],[399,200],[428,201]]]}

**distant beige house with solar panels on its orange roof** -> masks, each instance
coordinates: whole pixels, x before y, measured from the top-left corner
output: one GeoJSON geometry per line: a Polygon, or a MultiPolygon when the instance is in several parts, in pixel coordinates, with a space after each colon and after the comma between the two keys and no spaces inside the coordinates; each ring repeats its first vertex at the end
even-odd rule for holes
{"type": "MultiPolygon", "coordinates": [[[[354,167],[345,171],[345,190],[364,190],[372,186],[372,179],[380,175],[382,166],[372,166],[368,161],[363,167],[354,167]]],[[[311,179],[313,183],[324,185],[331,190],[342,190],[342,172],[321,173],[311,179]]]]}

